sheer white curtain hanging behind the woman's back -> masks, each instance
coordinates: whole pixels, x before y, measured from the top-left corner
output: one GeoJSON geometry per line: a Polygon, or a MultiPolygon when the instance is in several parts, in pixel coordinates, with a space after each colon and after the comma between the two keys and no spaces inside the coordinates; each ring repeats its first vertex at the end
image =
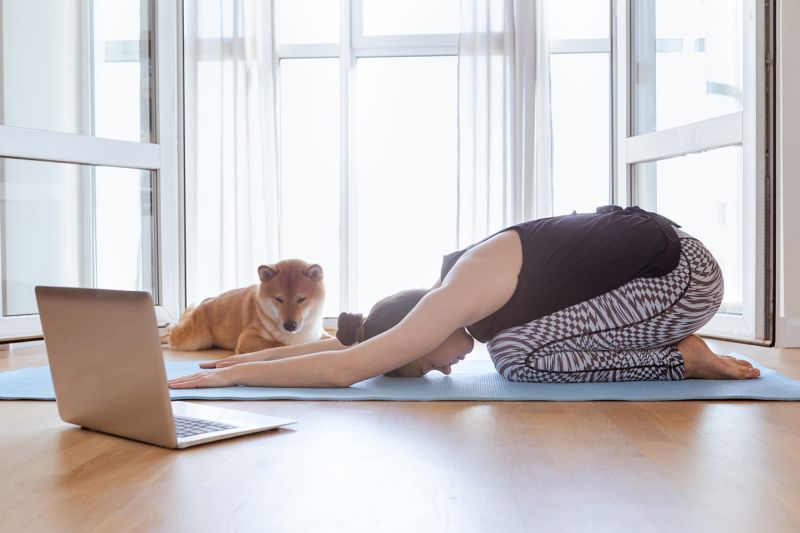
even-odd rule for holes
{"type": "Polygon", "coordinates": [[[545,0],[462,0],[458,244],[552,214],[545,0]]]}

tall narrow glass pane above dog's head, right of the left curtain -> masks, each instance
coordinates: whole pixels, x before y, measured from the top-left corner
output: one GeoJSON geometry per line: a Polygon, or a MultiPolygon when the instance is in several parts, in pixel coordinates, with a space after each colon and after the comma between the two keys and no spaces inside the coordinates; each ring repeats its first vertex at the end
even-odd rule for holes
{"type": "Polygon", "coordinates": [[[322,265],[325,316],[338,316],[339,61],[281,61],[280,254],[322,265]]]}

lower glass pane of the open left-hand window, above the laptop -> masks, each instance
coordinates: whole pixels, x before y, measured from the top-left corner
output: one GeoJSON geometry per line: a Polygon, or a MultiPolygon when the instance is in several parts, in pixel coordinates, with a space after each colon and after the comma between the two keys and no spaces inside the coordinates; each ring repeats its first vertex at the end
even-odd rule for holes
{"type": "Polygon", "coordinates": [[[4,158],[0,188],[4,316],[36,285],[153,291],[149,171],[4,158]]]}

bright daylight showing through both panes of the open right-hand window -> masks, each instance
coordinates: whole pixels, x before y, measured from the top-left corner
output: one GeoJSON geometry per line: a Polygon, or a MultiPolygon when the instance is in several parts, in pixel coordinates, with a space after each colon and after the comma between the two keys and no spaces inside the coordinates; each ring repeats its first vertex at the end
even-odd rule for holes
{"type": "MultiPolygon", "coordinates": [[[[635,4],[633,135],[672,130],[690,136],[682,128],[702,121],[730,128],[726,117],[743,109],[741,0],[635,4]],[[695,16],[687,18],[687,12],[695,16]]],[[[725,278],[720,311],[733,315],[743,312],[744,202],[754,201],[743,197],[742,140],[634,166],[638,203],[681,223],[720,263],[725,278]]]]}

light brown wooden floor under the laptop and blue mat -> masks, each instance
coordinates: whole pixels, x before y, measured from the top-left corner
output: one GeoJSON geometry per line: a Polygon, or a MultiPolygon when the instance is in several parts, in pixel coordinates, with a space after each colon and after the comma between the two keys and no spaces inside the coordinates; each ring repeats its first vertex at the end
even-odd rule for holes
{"type": "Polygon", "coordinates": [[[169,451],[0,402],[0,531],[800,531],[800,403],[214,403],[299,423],[169,451]]]}

